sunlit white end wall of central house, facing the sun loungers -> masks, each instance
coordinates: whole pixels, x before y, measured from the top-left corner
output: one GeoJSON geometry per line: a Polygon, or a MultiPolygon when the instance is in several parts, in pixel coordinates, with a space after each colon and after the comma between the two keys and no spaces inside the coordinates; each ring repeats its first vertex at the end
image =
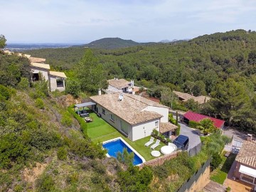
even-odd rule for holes
{"type": "Polygon", "coordinates": [[[148,122],[143,122],[140,124],[135,124],[132,126],[132,141],[142,139],[151,135],[154,129],[159,131],[159,119],[150,120],[148,122]],[[156,127],[156,122],[158,127],[156,127]]]}

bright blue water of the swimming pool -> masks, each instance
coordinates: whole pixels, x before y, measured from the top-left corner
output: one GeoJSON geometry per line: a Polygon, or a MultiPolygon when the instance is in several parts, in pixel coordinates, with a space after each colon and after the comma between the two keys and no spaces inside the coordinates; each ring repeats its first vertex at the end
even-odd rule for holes
{"type": "MultiPolygon", "coordinates": [[[[124,142],[122,142],[121,139],[117,139],[114,140],[112,142],[107,142],[105,144],[102,145],[105,149],[107,149],[107,153],[110,156],[113,156],[114,158],[117,158],[117,153],[118,151],[120,151],[122,153],[124,148],[127,148],[127,151],[129,153],[132,153],[132,149],[129,149],[129,146],[127,146],[126,144],[124,144],[124,142]]],[[[137,164],[142,164],[142,159],[139,158],[139,156],[137,156],[137,154],[134,153],[134,161],[133,164],[137,165],[137,164]]]]}

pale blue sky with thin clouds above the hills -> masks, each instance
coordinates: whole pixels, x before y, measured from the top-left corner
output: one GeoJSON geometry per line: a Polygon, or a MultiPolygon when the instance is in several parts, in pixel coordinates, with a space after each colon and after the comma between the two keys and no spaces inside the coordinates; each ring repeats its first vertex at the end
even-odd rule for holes
{"type": "Polygon", "coordinates": [[[137,42],[256,30],[255,0],[0,0],[7,43],[137,42]]]}

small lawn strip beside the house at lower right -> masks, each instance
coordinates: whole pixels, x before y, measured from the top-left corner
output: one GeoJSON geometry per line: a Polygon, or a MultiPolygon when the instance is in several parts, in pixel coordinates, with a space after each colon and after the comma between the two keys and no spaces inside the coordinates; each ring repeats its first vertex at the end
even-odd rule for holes
{"type": "Polygon", "coordinates": [[[222,162],[220,164],[220,167],[218,169],[215,169],[210,174],[210,180],[215,181],[217,183],[223,184],[225,181],[225,178],[228,176],[228,171],[230,170],[230,167],[233,164],[233,161],[235,160],[236,154],[230,154],[230,156],[225,157],[225,152],[222,154],[222,162]]]}

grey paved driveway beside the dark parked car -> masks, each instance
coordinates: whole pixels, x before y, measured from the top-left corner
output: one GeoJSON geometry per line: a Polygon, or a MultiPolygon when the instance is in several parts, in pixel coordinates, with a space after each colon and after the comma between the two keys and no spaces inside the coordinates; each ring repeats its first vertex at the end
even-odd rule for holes
{"type": "Polygon", "coordinates": [[[190,127],[186,126],[186,124],[179,124],[181,125],[181,134],[189,138],[188,150],[201,143],[200,137],[196,130],[191,129],[190,127]]]}

